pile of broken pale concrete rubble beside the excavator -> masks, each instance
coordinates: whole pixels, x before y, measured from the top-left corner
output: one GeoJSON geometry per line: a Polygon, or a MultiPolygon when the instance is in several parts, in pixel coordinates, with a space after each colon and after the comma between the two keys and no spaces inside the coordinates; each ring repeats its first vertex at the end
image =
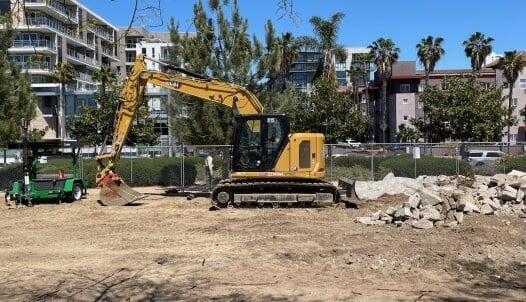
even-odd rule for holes
{"type": "Polygon", "coordinates": [[[494,176],[420,176],[416,179],[395,177],[381,181],[356,181],[355,193],[361,202],[384,194],[405,194],[407,201],[356,222],[368,225],[410,225],[428,229],[455,227],[466,214],[511,214],[526,218],[526,173],[511,171],[494,176]]]}

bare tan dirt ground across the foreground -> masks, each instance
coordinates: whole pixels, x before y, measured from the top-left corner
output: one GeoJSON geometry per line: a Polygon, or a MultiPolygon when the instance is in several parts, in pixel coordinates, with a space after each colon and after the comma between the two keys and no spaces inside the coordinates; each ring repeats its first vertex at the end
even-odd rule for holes
{"type": "Polygon", "coordinates": [[[354,222],[358,209],[208,211],[149,196],[0,210],[0,301],[525,301],[526,220],[468,215],[456,228],[354,222]]]}

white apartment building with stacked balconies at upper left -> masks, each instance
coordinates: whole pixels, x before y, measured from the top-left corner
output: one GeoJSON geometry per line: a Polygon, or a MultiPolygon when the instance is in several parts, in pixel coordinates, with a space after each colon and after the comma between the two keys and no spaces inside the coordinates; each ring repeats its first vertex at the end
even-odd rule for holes
{"type": "Polygon", "coordinates": [[[68,138],[67,133],[60,135],[65,119],[82,104],[96,105],[93,73],[119,60],[118,28],[75,0],[0,0],[0,8],[12,12],[17,31],[8,60],[31,75],[37,98],[31,127],[47,127],[44,139],[68,138]],[[58,116],[61,84],[52,77],[61,63],[73,66],[75,72],[75,79],[66,85],[62,120],[58,116]]]}

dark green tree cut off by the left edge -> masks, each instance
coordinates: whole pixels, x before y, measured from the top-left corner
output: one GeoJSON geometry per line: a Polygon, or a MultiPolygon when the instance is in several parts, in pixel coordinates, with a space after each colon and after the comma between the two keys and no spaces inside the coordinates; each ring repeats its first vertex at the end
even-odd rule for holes
{"type": "MultiPolygon", "coordinates": [[[[11,46],[15,31],[10,14],[0,16],[0,146],[20,140],[21,119],[36,115],[36,99],[31,91],[31,77],[14,62],[8,62],[5,51],[11,46]]],[[[38,129],[33,129],[38,133],[38,129]]]]}

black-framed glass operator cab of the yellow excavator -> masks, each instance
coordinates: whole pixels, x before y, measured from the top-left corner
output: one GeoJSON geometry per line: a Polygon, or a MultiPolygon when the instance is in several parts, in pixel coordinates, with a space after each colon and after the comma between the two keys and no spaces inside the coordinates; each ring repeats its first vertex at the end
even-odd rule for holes
{"type": "Polygon", "coordinates": [[[288,139],[288,118],[282,114],[257,114],[235,119],[233,171],[273,171],[288,139]]]}

